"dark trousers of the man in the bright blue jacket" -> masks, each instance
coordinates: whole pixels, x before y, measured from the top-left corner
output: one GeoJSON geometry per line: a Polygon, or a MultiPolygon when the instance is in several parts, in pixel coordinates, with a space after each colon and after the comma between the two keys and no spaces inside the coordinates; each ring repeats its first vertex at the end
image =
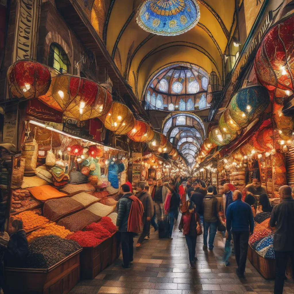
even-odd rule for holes
{"type": "MultiPolygon", "coordinates": [[[[238,274],[243,275],[246,267],[247,260],[247,250],[248,250],[248,240],[249,231],[243,232],[233,232],[235,258],[238,265],[238,274]]],[[[285,276],[285,273],[284,273],[285,276]]]]}

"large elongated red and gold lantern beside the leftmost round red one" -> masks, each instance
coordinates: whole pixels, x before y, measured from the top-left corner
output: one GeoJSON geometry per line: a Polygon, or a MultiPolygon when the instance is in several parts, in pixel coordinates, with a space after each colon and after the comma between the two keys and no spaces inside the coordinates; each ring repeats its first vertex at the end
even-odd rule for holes
{"type": "Polygon", "coordinates": [[[52,78],[48,92],[38,97],[64,116],[85,121],[108,113],[112,97],[102,86],[86,78],[60,74],[52,78]]]}

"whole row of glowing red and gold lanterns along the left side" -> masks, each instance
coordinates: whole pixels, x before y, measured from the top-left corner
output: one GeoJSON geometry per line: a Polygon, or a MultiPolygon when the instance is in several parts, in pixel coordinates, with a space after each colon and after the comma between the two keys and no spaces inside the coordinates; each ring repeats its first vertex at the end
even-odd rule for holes
{"type": "MultiPolygon", "coordinates": [[[[112,101],[111,93],[86,78],[59,74],[51,78],[50,68],[32,60],[19,60],[7,72],[11,94],[23,100],[37,97],[41,102],[77,121],[99,118],[116,135],[127,135],[135,142],[147,143],[154,153],[170,153],[173,146],[166,137],[136,120],[123,103],[112,101]]],[[[173,159],[178,158],[178,153],[173,159]]]]}

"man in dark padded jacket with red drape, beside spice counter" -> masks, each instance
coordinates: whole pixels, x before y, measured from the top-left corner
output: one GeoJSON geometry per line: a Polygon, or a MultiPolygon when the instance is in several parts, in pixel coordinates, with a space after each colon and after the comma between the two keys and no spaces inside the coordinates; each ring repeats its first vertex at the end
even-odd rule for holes
{"type": "Polygon", "coordinates": [[[142,202],[130,192],[127,184],[121,186],[123,196],[117,203],[116,230],[121,233],[123,268],[130,268],[133,261],[134,233],[140,233],[144,212],[142,202]]]}

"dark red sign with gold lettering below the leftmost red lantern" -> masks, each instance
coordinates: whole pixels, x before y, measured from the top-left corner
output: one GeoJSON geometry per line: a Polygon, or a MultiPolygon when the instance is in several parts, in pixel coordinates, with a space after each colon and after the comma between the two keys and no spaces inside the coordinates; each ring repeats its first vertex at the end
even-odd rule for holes
{"type": "Polygon", "coordinates": [[[45,105],[37,98],[28,101],[26,113],[41,121],[62,123],[62,112],[45,105]]]}

